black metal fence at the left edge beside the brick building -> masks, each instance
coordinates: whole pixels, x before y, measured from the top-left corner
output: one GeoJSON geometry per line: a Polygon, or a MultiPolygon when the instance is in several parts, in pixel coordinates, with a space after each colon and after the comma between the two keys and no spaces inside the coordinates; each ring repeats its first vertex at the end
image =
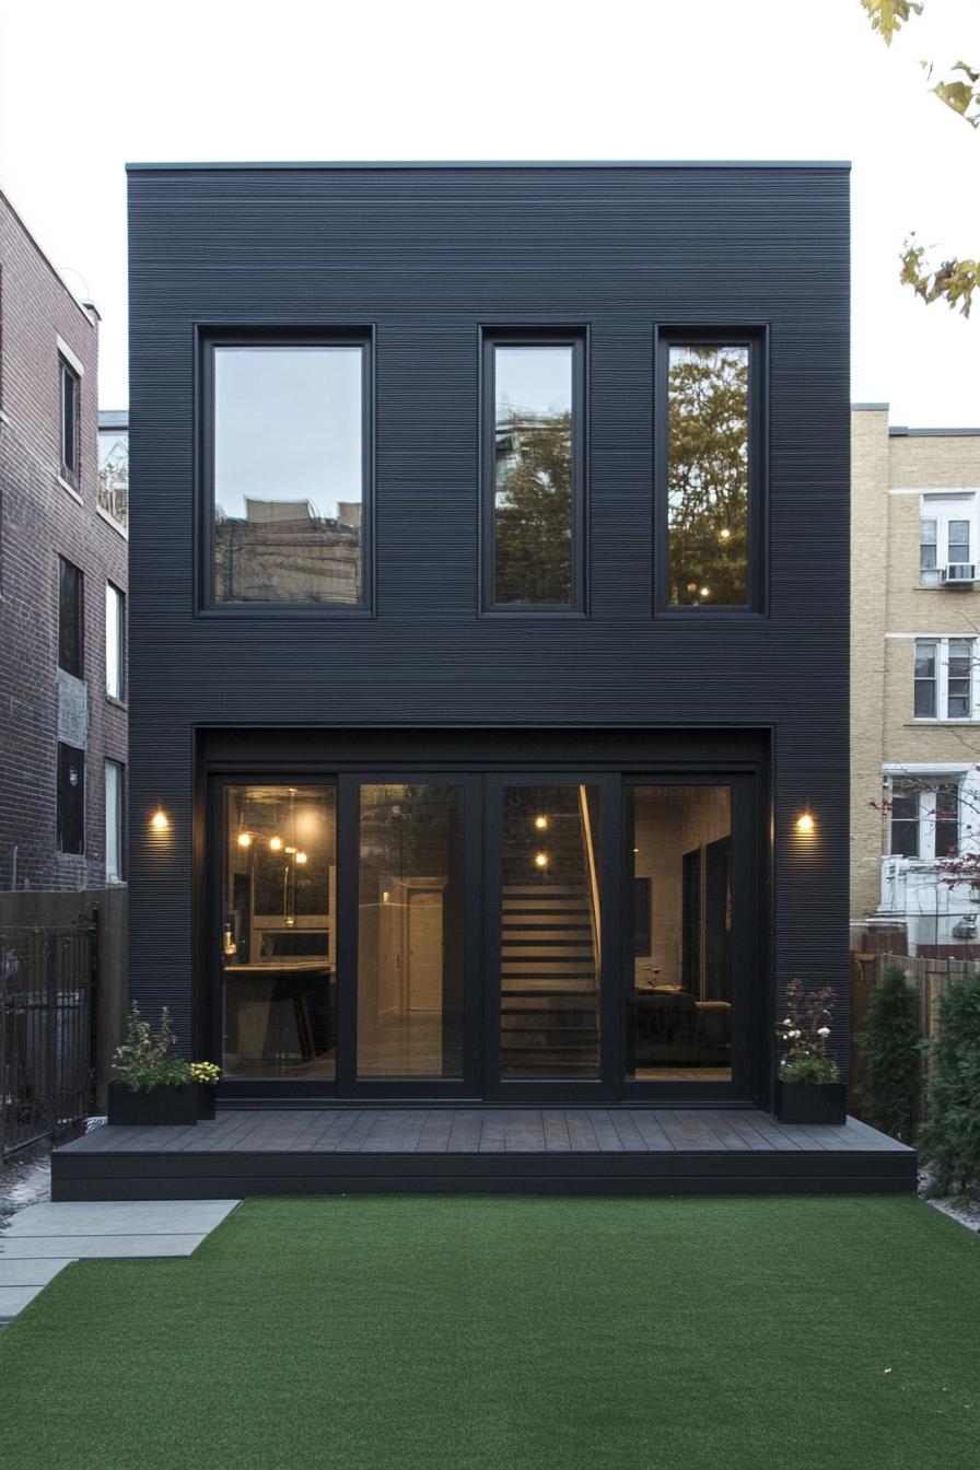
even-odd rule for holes
{"type": "Polygon", "coordinates": [[[97,916],[0,928],[0,1158],[88,1116],[97,966],[97,916]]]}

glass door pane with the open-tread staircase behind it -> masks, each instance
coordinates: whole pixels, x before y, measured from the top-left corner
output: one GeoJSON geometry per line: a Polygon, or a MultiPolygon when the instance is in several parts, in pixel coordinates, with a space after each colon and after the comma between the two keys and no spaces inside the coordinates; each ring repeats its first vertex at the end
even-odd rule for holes
{"type": "Polygon", "coordinates": [[[500,1075],[599,1076],[599,786],[504,785],[500,1075]]]}

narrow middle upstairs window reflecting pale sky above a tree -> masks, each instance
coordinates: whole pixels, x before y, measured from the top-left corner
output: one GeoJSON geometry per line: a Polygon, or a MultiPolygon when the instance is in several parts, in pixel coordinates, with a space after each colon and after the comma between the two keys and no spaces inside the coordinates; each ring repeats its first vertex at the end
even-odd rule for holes
{"type": "Polygon", "coordinates": [[[483,409],[486,610],[585,606],[585,344],[488,338],[483,409]]]}

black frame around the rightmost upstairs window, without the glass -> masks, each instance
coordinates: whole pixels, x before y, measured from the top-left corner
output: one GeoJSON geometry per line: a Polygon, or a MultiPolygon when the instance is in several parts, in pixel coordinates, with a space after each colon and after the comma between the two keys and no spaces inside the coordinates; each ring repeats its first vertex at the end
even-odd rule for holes
{"type": "Polygon", "coordinates": [[[768,325],[657,323],[654,328],[654,617],[693,622],[745,622],[768,617],[768,325]],[[685,606],[670,601],[670,348],[746,347],[748,412],[748,566],[746,601],[685,606]]]}

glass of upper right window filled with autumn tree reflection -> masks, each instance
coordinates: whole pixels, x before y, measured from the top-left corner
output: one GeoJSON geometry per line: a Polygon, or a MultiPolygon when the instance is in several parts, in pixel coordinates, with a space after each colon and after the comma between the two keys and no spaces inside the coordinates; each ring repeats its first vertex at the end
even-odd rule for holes
{"type": "Polygon", "coordinates": [[[745,347],[670,354],[670,601],[745,604],[748,384],[745,347]]]}

